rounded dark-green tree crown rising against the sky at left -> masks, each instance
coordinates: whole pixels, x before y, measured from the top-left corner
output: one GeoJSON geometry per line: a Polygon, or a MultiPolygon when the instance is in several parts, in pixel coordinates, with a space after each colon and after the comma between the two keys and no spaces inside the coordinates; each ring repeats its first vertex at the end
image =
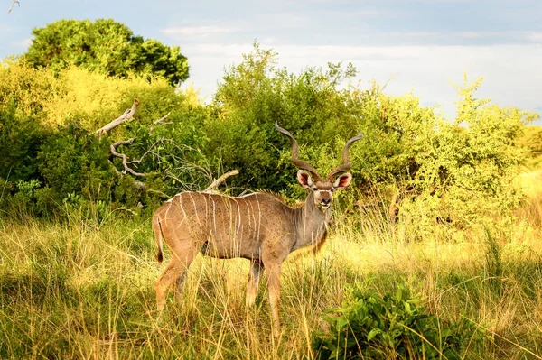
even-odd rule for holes
{"type": "Polygon", "coordinates": [[[121,78],[131,72],[153,74],[172,85],[188,78],[188,62],[178,46],[144,40],[112,19],[61,20],[34,29],[33,35],[23,59],[35,68],[75,65],[121,78]]]}

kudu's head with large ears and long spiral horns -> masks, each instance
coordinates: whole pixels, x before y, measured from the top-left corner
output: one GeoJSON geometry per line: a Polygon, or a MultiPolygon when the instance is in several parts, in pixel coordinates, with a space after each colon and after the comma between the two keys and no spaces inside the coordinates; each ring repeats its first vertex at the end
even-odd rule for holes
{"type": "Polygon", "coordinates": [[[314,205],[320,208],[322,212],[326,211],[332,206],[333,192],[338,189],[345,189],[350,185],[352,175],[347,171],[350,171],[352,165],[348,158],[348,149],[352,143],[361,139],[361,133],[358,136],[352,137],[344,145],[344,149],[342,150],[342,164],[332,170],[325,180],[323,180],[318,171],[310,163],[299,160],[299,147],[294,139],[294,135],[280,127],[277,123],[275,123],[275,128],[280,133],[288,136],[292,143],[292,162],[299,168],[299,171],[297,171],[297,181],[305,189],[313,192],[314,205]],[[337,177],[337,175],[340,176],[337,177]]]}

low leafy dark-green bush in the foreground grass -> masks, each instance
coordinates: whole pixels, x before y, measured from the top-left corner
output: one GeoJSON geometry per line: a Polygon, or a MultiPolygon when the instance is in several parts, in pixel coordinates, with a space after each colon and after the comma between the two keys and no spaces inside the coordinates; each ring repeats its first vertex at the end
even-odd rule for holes
{"type": "Polygon", "coordinates": [[[384,297],[350,287],[341,308],[326,312],[335,315],[324,317],[329,330],[313,334],[320,359],[460,359],[483,338],[466,318],[453,322],[428,314],[420,295],[401,284],[384,297]]]}

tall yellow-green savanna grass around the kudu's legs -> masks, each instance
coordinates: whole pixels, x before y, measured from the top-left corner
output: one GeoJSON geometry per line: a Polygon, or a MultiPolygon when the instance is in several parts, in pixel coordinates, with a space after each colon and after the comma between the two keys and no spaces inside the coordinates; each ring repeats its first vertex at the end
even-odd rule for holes
{"type": "Polygon", "coordinates": [[[170,297],[158,318],[163,265],[150,221],[83,209],[61,223],[3,220],[0,358],[312,358],[324,310],[341,306],[353,283],[381,294],[406,283],[429,313],[470,319],[487,337],[464,358],[542,358],[540,172],[521,181],[531,200],[506,233],[435,223],[413,240],[376,211],[341,221],[319,254],[286,260],[279,338],[265,281],[257,306],[245,306],[246,260],[199,255],[182,303],[170,297]]]}

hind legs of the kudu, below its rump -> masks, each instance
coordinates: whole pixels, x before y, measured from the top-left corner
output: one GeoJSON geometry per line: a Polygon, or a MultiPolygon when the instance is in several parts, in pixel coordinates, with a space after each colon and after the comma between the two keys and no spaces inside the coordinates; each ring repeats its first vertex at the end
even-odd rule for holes
{"type": "Polygon", "coordinates": [[[156,290],[156,307],[159,311],[164,309],[167,291],[172,285],[175,285],[175,298],[180,299],[180,292],[186,278],[186,271],[199,251],[189,239],[181,240],[178,243],[180,245],[171,247],[172,260],[168,263],[164,272],[162,272],[154,285],[156,290]]]}

